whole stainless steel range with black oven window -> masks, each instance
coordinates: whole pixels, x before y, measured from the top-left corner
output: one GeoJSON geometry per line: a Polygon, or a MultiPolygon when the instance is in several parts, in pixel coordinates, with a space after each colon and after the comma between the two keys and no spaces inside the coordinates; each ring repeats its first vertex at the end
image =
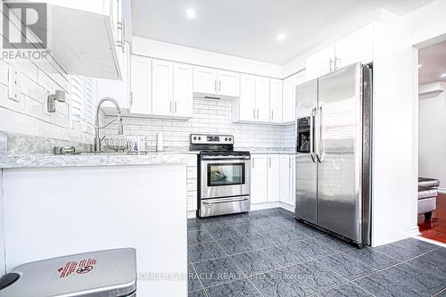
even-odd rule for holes
{"type": "Polygon", "coordinates": [[[250,210],[251,154],[234,151],[234,136],[191,134],[198,155],[198,217],[250,210]]]}

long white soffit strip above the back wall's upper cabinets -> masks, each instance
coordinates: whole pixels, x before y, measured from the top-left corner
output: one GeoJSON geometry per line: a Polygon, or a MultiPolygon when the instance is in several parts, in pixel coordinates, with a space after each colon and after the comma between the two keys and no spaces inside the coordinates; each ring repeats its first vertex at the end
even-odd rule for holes
{"type": "Polygon", "coordinates": [[[143,37],[133,37],[132,54],[251,73],[270,78],[282,78],[281,65],[203,51],[182,45],[173,45],[143,37]]]}

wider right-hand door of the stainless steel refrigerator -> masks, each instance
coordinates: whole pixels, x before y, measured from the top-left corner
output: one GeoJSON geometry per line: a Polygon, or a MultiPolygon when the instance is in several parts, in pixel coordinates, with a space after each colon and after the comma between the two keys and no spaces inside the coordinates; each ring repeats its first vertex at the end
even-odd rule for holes
{"type": "Polygon", "coordinates": [[[362,70],[359,63],[318,82],[318,226],[361,242],[362,70]]]}

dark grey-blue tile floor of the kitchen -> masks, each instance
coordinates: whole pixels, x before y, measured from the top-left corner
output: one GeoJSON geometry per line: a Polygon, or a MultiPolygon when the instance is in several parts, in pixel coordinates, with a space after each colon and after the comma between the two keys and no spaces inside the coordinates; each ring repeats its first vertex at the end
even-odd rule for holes
{"type": "Polygon", "coordinates": [[[446,249],[357,249],[285,210],[189,219],[189,296],[446,296],[446,249]]]}

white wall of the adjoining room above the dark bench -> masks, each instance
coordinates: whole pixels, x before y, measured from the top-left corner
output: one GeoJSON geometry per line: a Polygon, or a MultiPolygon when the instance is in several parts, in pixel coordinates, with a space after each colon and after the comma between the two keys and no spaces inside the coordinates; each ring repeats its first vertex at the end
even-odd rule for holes
{"type": "MultiPolygon", "coordinates": [[[[434,97],[419,100],[419,176],[440,179],[442,191],[446,191],[446,84],[443,92],[434,97]]],[[[423,86],[420,86],[420,89],[423,86]]]]}

